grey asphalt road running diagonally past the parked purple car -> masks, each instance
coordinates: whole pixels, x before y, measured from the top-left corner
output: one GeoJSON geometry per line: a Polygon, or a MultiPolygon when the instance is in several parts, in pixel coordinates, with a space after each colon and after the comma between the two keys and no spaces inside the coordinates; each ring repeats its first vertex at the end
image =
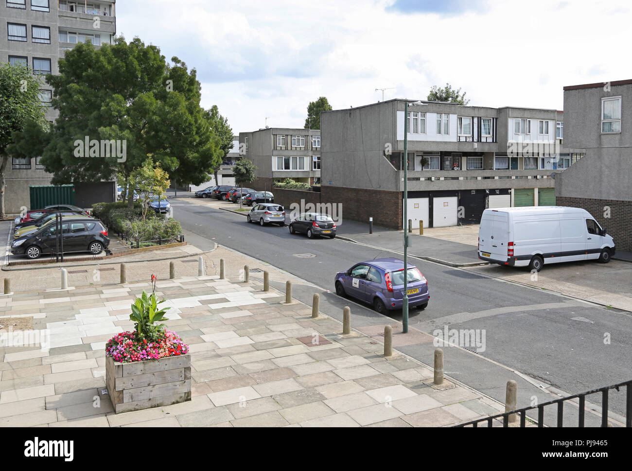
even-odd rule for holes
{"type": "MultiPolygon", "coordinates": [[[[241,215],[186,200],[172,199],[171,204],[174,217],[190,232],[192,243],[214,240],[325,290],[334,291],[336,272],[346,270],[356,262],[392,256],[389,252],[338,239],[308,240],[303,235],[292,236],[287,226],[248,224],[241,215]],[[310,258],[304,258],[305,254],[310,258]]],[[[411,261],[428,279],[430,289],[428,308],[411,311],[411,327],[428,333],[437,328],[443,330],[446,325],[450,329],[484,329],[485,350],[477,355],[568,393],[632,379],[631,315],[463,269],[425,260],[411,261]]],[[[295,297],[302,297],[301,301],[307,303],[311,302],[312,293],[313,288],[294,290],[295,297]]],[[[334,317],[343,305],[349,304],[348,300],[341,300],[334,293],[325,294],[321,310],[334,317]],[[339,309],[333,309],[332,314],[324,309],[324,305],[339,309]]],[[[353,312],[362,315],[368,324],[385,323],[384,318],[368,306],[366,309],[355,307],[353,312]]],[[[401,311],[392,312],[390,317],[401,320],[401,311]]],[[[434,348],[432,344],[429,347],[434,348]]],[[[423,355],[425,360],[422,361],[428,363],[428,345],[411,345],[399,350],[415,358],[423,355]]],[[[470,353],[465,355],[477,357],[470,353]]],[[[455,353],[456,356],[465,358],[463,352],[455,353]]],[[[492,396],[502,396],[498,387],[493,394],[484,388],[486,381],[492,382],[491,376],[495,374],[492,364],[489,364],[490,377],[485,379],[480,365],[477,371],[468,370],[466,363],[470,361],[473,360],[464,360],[463,367],[454,368],[454,371],[447,366],[446,370],[465,384],[478,386],[492,396]]],[[[504,401],[504,396],[500,400],[504,401]]],[[[589,400],[599,402],[600,398],[592,396],[589,400]]],[[[623,414],[623,394],[612,395],[610,407],[623,414]]]]}

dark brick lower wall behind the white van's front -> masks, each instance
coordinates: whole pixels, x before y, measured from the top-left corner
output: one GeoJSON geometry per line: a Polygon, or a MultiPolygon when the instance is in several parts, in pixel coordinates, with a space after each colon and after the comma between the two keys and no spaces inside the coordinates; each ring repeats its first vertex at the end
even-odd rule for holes
{"type": "Polygon", "coordinates": [[[558,206],[583,208],[612,236],[617,250],[632,252],[632,201],[556,197],[558,206]],[[605,217],[607,208],[610,217],[605,217]]]}

